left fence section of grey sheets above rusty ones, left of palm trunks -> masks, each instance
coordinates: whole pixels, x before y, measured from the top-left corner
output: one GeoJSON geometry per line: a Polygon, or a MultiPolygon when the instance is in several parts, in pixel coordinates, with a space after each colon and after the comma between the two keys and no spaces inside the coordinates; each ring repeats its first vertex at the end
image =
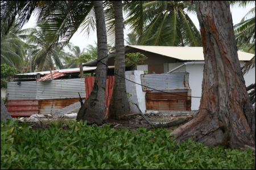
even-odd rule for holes
{"type": "MultiPolygon", "coordinates": [[[[85,99],[85,78],[60,79],[49,82],[9,82],[7,110],[11,116],[51,114],[85,99]]],[[[74,113],[77,113],[74,111],[74,113]]]]}

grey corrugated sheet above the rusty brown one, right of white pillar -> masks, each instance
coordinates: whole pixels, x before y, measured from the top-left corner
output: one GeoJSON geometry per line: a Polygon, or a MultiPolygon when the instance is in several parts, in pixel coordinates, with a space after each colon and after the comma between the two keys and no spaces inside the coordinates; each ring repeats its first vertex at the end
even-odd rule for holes
{"type": "MultiPolygon", "coordinates": [[[[188,84],[189,73],[164,73],[164,74],[142,74],[141,83],[143,91],[154,91],[156,90],[171,92],[173,90],[187,90],[189,89],[188,84]]],[[[155,91],[159,92],[159,91],[155,91]]]]}

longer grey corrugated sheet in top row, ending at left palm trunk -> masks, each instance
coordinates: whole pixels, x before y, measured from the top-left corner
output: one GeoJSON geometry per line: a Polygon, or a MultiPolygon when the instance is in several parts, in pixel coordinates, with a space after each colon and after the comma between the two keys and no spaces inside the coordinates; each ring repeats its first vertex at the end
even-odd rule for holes
{"type": "Polygon", "coordinates": [[[37,82],[36,100],[85,98],[85,79],[60,79],[51,82],[37,82]]]}

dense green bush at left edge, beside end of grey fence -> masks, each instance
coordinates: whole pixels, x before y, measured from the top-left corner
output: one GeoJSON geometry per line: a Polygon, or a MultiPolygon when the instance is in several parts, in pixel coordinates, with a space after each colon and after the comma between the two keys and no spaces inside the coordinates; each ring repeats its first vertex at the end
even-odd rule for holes
{"type": "Polygon", "coordinates": [[[18,74],[19,71],[14,67],[7,65],[6,63],[1,64],[1,88],[7,88],[8,79],[14,74],[18,74]]]}

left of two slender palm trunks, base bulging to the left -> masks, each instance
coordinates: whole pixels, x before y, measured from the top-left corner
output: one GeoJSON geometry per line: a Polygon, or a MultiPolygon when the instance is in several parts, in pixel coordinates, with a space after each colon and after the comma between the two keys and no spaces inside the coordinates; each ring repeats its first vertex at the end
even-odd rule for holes
{"type": "MultiPolygon", "coordinates": [[[[93,3],[97,27],[97,59],[100,60],[108,55],[106,24],[102,1],[93,1],[93,3]]],[[[106,61],[107,58],[104,58],[101,60],[102,63],[98,62],[93,91],[80,108],[77,121],[87,120],[89,123],[101,124],[104,120],[107,67],[103,63],[106,61]]]]}

